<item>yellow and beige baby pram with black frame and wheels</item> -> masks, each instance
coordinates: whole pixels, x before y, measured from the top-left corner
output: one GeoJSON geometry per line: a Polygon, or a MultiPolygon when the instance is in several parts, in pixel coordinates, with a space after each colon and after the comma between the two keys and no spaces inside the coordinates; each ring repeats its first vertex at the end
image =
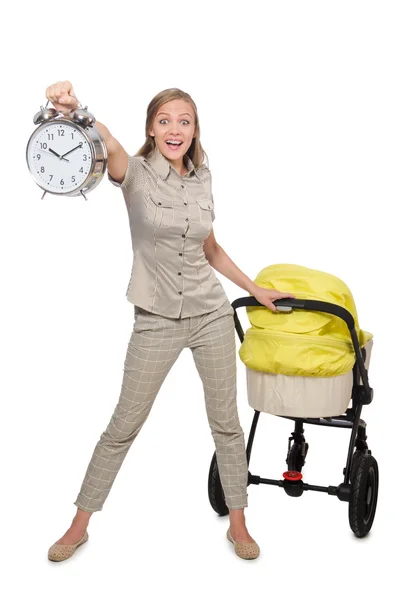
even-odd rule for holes
{"type": "MultiPolygon", "coordinates": [[[[306,490],[326,492],[349,504],[349,523],[357,537],[365,536],[375,517],[379,473],[367,445],[363,405],[370,404],[368,382],[372,334],[362,331],[349,288],[337,277],[299,265],[272,265],[255,283],[288,291],[295,298],[274,302],[273,313],[253,296],[232,302],[239,350],[246,365],[249,405],[255,414],[246,455],[249,465],[260,412],[295,421],[288,440],[287,466],[282,480],[264,479],[248,471],[247,485],[260,483],[282,487],[289,496],[306,490]],[[252,327],[244,336],[236,309],[246,306],[252,327]],[[337,486],[304,483],[302,468],[309,444],[303,425],[351,429],[343,482],[337,486]]],[[[225,503],[214,453],[208,478],[208,495],[219,515],[225,503]]]]}

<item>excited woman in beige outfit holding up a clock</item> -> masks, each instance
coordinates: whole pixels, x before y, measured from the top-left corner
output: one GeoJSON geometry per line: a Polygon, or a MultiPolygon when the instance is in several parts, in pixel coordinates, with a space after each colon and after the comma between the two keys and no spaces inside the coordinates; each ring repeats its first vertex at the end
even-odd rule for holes
{"type": "MultiPolygon", "coordinates": [[[[54,107],[68,114],[78,106],[72,84],[47,88],[54,107]]],[[[256,558],[259,546],[244,516],[248,467],[236,405],[233,307],[212,269],[252,294],[270,310],[293,297],[253,283],[217,243],[211,174],[203,163],[197,108],[179,89],[150,102],[146,141],[129,156],[96,122],[108,150],[108,177],[121,187],[128,208],[133,269],[127,290],[135,322],[124,363],[119,402],[101,435],[75,501],[77,513],[65,535],[48,551],[50,560],[72,556],[88,539],[93,512],[102,509],[121,464],[142,428],[156,395],[183,348],[192,350],[203,382],[218,469],[229,508],[227,538],[241,558],[256,558]]]]}

